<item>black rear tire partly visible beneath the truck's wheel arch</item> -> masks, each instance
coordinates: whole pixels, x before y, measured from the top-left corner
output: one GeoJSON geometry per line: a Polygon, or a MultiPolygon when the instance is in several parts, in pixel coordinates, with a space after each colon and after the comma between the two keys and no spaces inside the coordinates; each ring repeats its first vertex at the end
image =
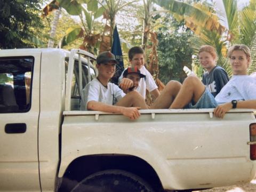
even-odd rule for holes
{"type": "Polygon", "coordinates": [[[89,175],[71,192],[154,192],[137,175],[123,170],[106,170],[89,175]]]}

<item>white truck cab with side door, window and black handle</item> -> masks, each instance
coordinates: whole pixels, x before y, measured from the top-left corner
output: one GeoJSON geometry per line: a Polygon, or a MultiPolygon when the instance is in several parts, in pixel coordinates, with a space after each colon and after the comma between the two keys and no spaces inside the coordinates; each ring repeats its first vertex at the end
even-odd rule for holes
{"type": "MultiPolygon", "coordinates": [[[[61,49],[0,51],[0,191],[57,185],[69,56],[61,49]]],[[[81,60],[85,86],[96,71],[81,60]]],[[[70,99],[79,110],[78,58],[74,62],[70,99]]]]}

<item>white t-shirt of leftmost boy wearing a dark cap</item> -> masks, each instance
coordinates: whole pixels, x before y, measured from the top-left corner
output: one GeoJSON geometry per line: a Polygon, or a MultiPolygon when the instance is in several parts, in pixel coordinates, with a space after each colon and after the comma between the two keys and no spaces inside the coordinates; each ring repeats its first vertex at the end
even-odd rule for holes
{"type": "Polygon", "coordinates": [[[87,103],[89,101],[99,101],[108,105],[115,105],[124,95],[123,90],[114,83],[108,83],[108,88],[106,88],[95,78],[82,91],[80,110],[87,110],[87,103]]]}

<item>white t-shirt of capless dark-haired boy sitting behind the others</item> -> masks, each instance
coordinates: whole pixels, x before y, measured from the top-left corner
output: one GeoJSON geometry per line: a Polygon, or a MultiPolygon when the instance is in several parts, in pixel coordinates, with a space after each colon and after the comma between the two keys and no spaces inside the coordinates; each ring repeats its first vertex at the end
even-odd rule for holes
{"type": "MultiPolygon", "coordinates": [[[[124,73],[124,71],[123,71],[124,73]]],[[[121,74],[121,76],[118,79],[118,82],[121,83],[122,79],[123,79],[123,73],[121,74]]],[[[151,92],[155,89],[157,89],[157,85],[152,77],[152,75],[149,73],[149,71],[146,69],[145,66],[143,66],[140,69],[140,73],[143,75],[146,75],[146,78],[140,78],[140,82],[139,85],[136,89],[136,91],[138,91],[142,97],[144,99],[146,99],[146,89],[151,92]]]]}

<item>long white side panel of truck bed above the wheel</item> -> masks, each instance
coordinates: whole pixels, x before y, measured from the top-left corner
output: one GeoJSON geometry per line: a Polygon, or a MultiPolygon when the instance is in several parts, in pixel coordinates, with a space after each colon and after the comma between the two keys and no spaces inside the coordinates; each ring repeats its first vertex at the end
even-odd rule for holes
{"type": "Polygon", "coordinates": [[[73,159],[93,154],[134,155],[157,172],[164,189],[211,188],[255,176],[250,160],[252,110],[141,110],[136,121],[99,111],[65,111],[59,177],[73,159]],[[225,127],[225,128],[223,128],[225,127]],[[237,169],[234,169],[236,167],[237,169]]]}

